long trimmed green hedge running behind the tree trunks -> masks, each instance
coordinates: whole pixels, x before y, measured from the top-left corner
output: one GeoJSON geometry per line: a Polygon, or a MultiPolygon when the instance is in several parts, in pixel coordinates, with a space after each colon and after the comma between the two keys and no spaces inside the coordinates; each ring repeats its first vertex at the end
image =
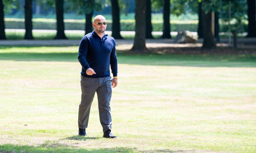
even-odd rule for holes
{"type": "MultiPolygon", "coordinates": [[[[24,19],[5,19],[5,28],[7,29],[25,29],[24,19]]],[[[56,20],[55,19],[32,19],[33,29],[45,29],[45,30],[56,30],[56,20]]],[[[112,30],[112,21],[107,20],[107,29],[112,30]]],[[[85,20],[64,20],[65,30],[84,30],[85,20]]],[[[134,31],[135,30],[135,20],[120,20],[121,31],[134,31]]],[[[163,23],[162,21],[153,20],[152,21],[153,31],[162,31],[163,23]]],[[[171,31],[197,31],[198,21],[170,21],[171,31]]],[[[247,24],[232,25],[232,30],[237,29],[238,33],[247,31],[247,24]],[[235,28],[237,27],[237,28],[235,28]]],[[[227,32],[228,25],[226,23],[220,23],[219,32],[227,32]]]]}

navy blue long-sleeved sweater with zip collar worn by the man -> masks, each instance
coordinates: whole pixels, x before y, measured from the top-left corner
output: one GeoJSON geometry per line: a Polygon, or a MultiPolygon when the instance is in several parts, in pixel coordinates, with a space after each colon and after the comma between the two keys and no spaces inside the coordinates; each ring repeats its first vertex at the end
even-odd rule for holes
{"type": "Polygon", "coordinates": [[[82,65],[81,74],[90,78],[110,76],[109,66],[113,76],[117,76],[116,41],[105,34],[102,39],[95,31],[85,35],[79,46],[78,60],[82,65]],[[86,70],[92,68],[96,74],[87,75],[86,70]]]}

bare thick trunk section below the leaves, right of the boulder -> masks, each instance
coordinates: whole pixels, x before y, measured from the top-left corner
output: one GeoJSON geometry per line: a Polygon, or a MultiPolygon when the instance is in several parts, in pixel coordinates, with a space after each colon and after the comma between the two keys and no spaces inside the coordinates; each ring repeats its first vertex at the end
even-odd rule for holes
{"type": "Polygon", "coordinates": [[[204,32],[204,42],[202,48],[214,48],[216,47],[214,37],[211,31],[211,11],[206,13],[204,10],[202,11],[203,17],[203,32],[204,32]]]}

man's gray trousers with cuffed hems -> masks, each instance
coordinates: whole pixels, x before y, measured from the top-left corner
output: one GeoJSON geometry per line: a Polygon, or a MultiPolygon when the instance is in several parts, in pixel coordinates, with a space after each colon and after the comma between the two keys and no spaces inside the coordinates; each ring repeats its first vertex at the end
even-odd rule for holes
{"type": "Polygon", "coordinates": [[[112,78],[88,78],[81,75],[81,102],[78,112],[78,127],[85,129],[88,126],[91,103],[95,92],[98,97],[99,120],[103,127],[103,132],[111,130],[112,119],[110,111],[110,99],[112,95],[112,78]]]}

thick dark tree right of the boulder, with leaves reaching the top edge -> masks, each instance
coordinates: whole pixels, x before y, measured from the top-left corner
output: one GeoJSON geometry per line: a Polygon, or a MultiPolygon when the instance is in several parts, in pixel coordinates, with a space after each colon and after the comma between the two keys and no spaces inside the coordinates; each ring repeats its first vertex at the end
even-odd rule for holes
{"type": "Polygon", "coordinates": [[[214,37],[212,35],[212,3],[210,0],[202,1],[202,18],[203,18],[203,32],[204,32],[204,42],[203,48],[214,48],[216,47],[214,37]]]}

